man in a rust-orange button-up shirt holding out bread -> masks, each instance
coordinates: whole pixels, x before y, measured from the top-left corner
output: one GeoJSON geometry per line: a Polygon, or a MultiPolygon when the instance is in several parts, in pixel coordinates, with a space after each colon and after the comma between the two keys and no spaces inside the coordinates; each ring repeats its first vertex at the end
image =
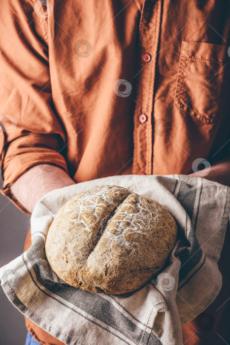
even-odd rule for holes
{"type": "MultiPolygon", "coordinates": [[[[2,1],[1,193],[30,214],[53,189],[109,175],[230,186],[229,13],[228,0],[2,1]]],[[[182,327],[187,345],[230,341],[215,302],[207,327],[204,313],[182,327]]],[[[36,327],[38,343],[62,344],[36,327]]]]}

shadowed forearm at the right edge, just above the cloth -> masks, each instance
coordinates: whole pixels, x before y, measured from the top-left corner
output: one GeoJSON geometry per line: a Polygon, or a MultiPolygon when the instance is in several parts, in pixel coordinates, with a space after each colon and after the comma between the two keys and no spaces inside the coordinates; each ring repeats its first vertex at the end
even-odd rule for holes
{"type": "Polygon", "coordinates": [[[223,159],[212,165],[211,169],[205,168],[189,175],[203,177],[230,187],[230,158],[223,159]]]}

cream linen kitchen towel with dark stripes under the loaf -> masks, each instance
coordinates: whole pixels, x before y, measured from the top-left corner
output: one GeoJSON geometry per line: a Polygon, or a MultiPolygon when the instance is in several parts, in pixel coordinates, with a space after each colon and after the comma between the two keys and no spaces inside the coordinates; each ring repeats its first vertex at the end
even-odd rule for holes
{"type": "MultiPolygon", "coordinates": [[[[64,344],[183,345],[181,325],[211,305],[221,290],[217,262],[229,214],[230,187],[201,177],[132,174],[58,188],[34,207],[32,245],[0,268],[1,286],[27,319],[64,344]],[[141,289],[123,295],[95,294],[66,284],[45,255],[47,233],[60,207],[78,193],[108,184],[156,200],[178,227],[163,271],[141,289]]],[[[42,333],[36,335],[43,342],[41,337],[42,333]]],[[[214,338],[216,345],[215,333],[214,338]]],[[[50,338],[44,339],[49,344],[50,338]]]]}

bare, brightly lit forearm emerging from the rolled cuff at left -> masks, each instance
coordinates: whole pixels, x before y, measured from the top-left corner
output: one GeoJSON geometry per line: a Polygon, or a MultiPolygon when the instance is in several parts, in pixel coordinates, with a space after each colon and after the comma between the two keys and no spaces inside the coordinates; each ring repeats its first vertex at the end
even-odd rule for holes
{"type": "Polygon", "coordinates": [[[10,187],[11,194],[32,213],[37,201],[56,188],[75,184],[61,168],[50,165],[36,165],[21,175],[10,187]]]}

